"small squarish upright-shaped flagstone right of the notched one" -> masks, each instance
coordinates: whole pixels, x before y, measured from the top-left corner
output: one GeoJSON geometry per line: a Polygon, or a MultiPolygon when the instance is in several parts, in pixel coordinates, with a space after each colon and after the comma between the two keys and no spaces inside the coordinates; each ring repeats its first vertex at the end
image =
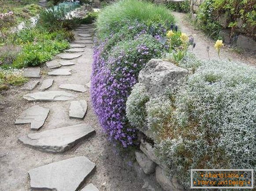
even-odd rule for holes
{"type": "Polygon", "coordinates": [[[85,100],[72,101],[69,108],[69,117],[84,118],[87,111],[87,102],[85,100]]]}

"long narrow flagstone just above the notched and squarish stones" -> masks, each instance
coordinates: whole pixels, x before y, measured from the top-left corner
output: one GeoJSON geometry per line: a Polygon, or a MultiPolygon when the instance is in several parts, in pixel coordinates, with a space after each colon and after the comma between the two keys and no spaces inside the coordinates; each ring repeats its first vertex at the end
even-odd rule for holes
{"type": "Polygon", "coordinates": [[[72,100],[76,96],[65,91],[40,91],[33,94],[23,96],[28,101],[67,101],[72,100]]]}

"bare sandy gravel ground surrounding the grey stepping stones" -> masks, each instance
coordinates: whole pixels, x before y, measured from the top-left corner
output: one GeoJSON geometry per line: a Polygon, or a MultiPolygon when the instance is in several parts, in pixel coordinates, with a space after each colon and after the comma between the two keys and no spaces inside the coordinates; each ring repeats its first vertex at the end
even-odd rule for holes
{"type": "MultiPolygon", "coordinates": [[[[80,40],[78,31],[75,31],[76,41],[80,40]]],[[[96,115],[93,112],[92,102],[90,100],[89,88],[85,86],[90,80],[92,70],[92,46],[85,44],[85,51],[82,56],[71,60],[61,60],[55,58],[64,64],[69,61],[75,62],[74,65],[61,66],[60,68],[70,69],[69,76],[48,76],[58,68],[49,69],[46,66],[41,67],[41,78],[37,78],[42,83],[45,79],[54,79],[53,85],[45,91],[65,91],[74,94],[74,100],[85,99],[88,109],[84,119],[69,118],[69,107],[71,101],[27,101],[22,98],[25,94],[31,94],[40,91],[41,85],[34,90],[22,90],[21,87],[14,87],[11,90],[0,94],[0,190],[1,191],[28,191],[30,190],[30,177],[28,171],[40,166],[59,162],[64,159],[70,159],[78,156],[85,156],[96,164],[96,169],[86,177],[81,188],[93,183],[100,191],[142,191],[143,181],[137,177],[137,174],[128,165],[129,161],[115,154],[112,144],[108,141],[105,134],[101,131],[96,115]],[[60,89],[61,84],[79,84],[85,86],[86,92],[75,92],[71,90],[60,89]],[[15,125],[15,120],[26,109],[33,105],[38,105],[49,109],[45,124],[38,130],[30,130],[30,124],[15,125]],[[28,133],[41,133],[46,130],[73,126],[86,123],[92,126],[96,133],[87,137],[84,141],[75,144],[73,148],[63,153],[46,153],[29,148],[17,142],[18,138],[26,136],[28,133]]],[[[70,172],[72,173],[72,172],[70,172]]],[[[72,181],[72,180],[68,180],[72,181]]]]}

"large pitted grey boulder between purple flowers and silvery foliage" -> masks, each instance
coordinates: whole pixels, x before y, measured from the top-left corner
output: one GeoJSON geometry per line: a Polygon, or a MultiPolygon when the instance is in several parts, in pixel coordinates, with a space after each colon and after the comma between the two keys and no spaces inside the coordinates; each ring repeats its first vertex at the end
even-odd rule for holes
{"type": "Polygon", "coordinates": [[[178,81],[188,74],[171,62],[160,59],[151,59],[139,73],[139,82],[143,83],[151,96],[165,93],[167,87],[173,88],[178,81]]]}

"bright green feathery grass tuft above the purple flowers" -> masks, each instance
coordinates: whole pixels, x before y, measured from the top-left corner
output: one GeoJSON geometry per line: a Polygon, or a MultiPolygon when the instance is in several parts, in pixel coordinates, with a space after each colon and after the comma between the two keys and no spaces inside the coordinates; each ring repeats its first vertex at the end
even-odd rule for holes
{"type": "Polygon", "coordinates": [[[170,11],[163,6],[138,0],[121,0],[104,7],[96,21],[98,36],[102,39],[118,32],[126,23],[138,21],[150,26],[174,22],[170,11]]]}

